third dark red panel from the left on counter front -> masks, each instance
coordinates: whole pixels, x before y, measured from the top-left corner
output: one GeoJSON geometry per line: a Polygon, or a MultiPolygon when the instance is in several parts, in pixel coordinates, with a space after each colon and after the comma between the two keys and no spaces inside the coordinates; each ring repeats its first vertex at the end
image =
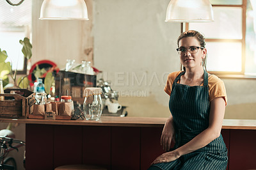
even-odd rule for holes
{"type": "Polygon", "coordinates": [[[111,127],[83,127],[83,164],[111,168],[111,127]]]}

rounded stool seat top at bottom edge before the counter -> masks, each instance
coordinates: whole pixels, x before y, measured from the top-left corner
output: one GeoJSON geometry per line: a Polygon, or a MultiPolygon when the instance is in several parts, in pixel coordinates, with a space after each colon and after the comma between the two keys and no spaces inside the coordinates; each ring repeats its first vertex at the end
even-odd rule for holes
{"type": "Polygon", "coordinates": [[[65,166],[58,166],[54,170],[108,170],[104,167],[95,166],[95,165],[83,165],[83,164],[76,164],[76,165],[65,165],[65,166]]]}

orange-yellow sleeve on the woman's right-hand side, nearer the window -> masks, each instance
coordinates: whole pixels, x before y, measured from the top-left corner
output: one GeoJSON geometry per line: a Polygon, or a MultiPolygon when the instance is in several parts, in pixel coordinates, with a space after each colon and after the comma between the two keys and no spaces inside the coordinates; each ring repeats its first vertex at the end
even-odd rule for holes
{"type": "Polygon", "coordinates": [[[211,75],[208,80],[210,102],[214,98],[223,97],[227,105],[227,93],[224,82],[216,75],[211,75]]]}

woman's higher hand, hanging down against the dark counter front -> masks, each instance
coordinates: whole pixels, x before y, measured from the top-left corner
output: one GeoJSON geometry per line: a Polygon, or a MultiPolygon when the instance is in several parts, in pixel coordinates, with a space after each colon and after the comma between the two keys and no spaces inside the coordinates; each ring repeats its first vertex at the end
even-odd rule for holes
{"type": "Polygon", "coordinates": [[[172,139],[174,141],[174,127],[172,117],[166,121],[161,135],[161,146],[164,151],[169,151],[171,148],[172,139]]]}

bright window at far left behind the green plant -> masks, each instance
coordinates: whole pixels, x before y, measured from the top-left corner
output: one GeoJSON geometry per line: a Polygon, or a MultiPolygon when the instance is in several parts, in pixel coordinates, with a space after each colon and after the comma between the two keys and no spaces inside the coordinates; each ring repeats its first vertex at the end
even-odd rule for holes
{"type": "Polygon", "coordinates": [[[12,62],[12,69],[17,68],[18,73],[26,73],[27,61],[22,54],[19,40],[29,38],[31,10],[31,0],[26,0],[19,6],[11,6],[6,1],[0,2],[0,48],[6,50],[6,60],[12,62]]]}

